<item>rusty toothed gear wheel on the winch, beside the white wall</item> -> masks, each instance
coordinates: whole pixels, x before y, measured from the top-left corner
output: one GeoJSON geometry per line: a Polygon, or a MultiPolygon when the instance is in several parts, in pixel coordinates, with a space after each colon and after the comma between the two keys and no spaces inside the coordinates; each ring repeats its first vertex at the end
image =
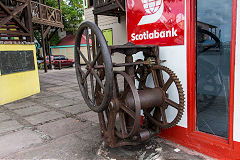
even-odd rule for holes
{"type": "Polygon", "coordinates": [[[147,87],[146,81],[148,75],[150,74],[152,74],[155,88],[160,87],[164,91],[165,97],[163,105],[150,109],[144,109],[144,116],[148,121],[150,121],[150,124],[154,125],[156,128],[171,128],[181,120],[184,112],[184,92],[181,82],[179,81],[176,74],[169,68],[161,65],[156,65],[148,68],[147,76],[145,75],[146,77],[142,77],[145,79],[145,82],[139,82],[140,88],[147,87]],[[163,77],[166,76],[166,74],[169,75],[169,77],[166,81],[164,81],[163,77]],[[178,99],[175,100],[177,102],[171,100],[168,93],[169,87],[174,84],[178,92],[178,99]],[[177,111],[175,117],[167,116],[166,109],[170,107],[174,108],[177,111]]]}

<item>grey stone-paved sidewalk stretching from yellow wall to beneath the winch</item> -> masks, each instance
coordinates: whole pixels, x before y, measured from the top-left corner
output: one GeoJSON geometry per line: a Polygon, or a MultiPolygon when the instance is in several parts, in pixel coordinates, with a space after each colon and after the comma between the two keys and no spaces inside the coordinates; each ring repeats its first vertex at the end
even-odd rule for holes
{"type": "Polygon", "coordinates": [[[39,71],[41,93],[0,106],[0,159],[210,159],[155,138],[110,149],[85,104],[73,68],[39,71]]]}

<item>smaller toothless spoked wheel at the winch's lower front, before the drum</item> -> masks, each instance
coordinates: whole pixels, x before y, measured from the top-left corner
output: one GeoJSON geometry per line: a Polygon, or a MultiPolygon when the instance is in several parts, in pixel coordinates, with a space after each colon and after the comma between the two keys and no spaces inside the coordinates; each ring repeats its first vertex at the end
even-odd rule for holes
{"type": "Polygon", "coordinates": [[[119,107],[115,121],[115,134],[121,139],[125,139],[135,135],[139,130],[141,103],[133,79],[127,73],[115,71],[114,82],[116,95],[120,97],[117,104],[119,107]],[[120,76],[123,77],[126,84],[123,92],[121,92],[122,89],[119,85],[119,80],[121,80],[120,76]],[[126,103],[125,99],[127,96],[133,97],[133,106],[128,106],[126,103]]]}

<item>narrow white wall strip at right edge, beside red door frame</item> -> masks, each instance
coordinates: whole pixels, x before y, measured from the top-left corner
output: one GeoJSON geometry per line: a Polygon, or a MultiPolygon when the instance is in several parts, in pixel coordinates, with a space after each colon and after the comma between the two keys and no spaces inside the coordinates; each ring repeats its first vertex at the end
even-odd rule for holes
{"type": "Polygon", "coordinates": [[[237,0],[233,140],[240,142],[240,0],[237,0]]]}

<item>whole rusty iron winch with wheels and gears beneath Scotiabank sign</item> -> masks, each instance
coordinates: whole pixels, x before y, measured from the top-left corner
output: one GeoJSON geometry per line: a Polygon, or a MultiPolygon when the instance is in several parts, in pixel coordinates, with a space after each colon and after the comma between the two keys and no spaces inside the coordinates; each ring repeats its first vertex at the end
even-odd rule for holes
{"type": "Polygon", "coordinates": [[[97,25],[80,25],[75,41],[77,79],[86,104],[98,113],[101,134],[110,147],[139,144],[180,121],[182,85],[162,62],[158,46],[108,46],[97,25]],[[134,61],[139,52],[144,59],[134,61]],[[113,54],[124,54],[125,63],[112,63],[113,54]]]}

